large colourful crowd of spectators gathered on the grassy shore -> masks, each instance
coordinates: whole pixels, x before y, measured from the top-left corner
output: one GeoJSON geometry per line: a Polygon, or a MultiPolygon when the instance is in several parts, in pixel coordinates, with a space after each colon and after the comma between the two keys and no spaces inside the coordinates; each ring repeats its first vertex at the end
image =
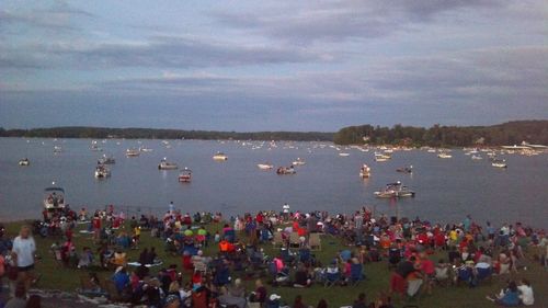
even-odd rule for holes
{"type": "MultiPolygon", "coordinates": [[[[279,213],[248,213],[228,219],[220,213],[191,216],[171,205],[160,218],[142,215],[126,219],[123,213],[115,214],[109,207],[94,213],[91,219],[82,209],[79,215],[61,216],[56,221],[64,242],[52,246],[54,258],[62,266],[90,271],[82,294],[149,307],[328,307],[326,299],[317,305],[305,304],[306,298],[297,296],[292,301],[282,298],[276,289],[357,285],[367,280],[366,265],[372,262],[386,262],[390,269],[387,292],[373,301],[359,294],[352,307],[393,307],[393,300],[431,294],[437,286],[476,287],[493,275],[507,277],[507,285],[487,299],[509,307],[532,306],[535,299],[530,283],[516,283],[510,274],[526,270],[526,250],[545,267],[548,253],[545,231],[520,223],[500,228],[487,223],[482,227],[467,216],[458,224],[442,225],[419,218],[374,216],[366,207],[352,215],[330,215],[290,212],[285,204],[279,213]],[[73,230],[78,221],[88,220],[84,232],[92,235],[99,248],[94,250],[90,244],[78,251],[73,230]],[[221,221],[221,229],[213,233],[208,230],[209,224],[221,221]],[[140,247],[142,231],[163,243],[161,253],[157,247],[140,247]],[[342,243],[324,264],[315,255],[315,235],[342,243]],[[273,255],[266,255],[264,244],[270,247],[271,242],[276,249],[269,249],[273,255]],[[138,260],[128,260],[130,249],[140,251],[138,260]],[[205,255],[205,250],[215,253],[205,255]],[[159,255],[162,253],[180,256],[181,263],[164,264],[159,255]],[[433,255],[443,256],[434,262],[433,255]],[[94,267],[112,271],[112,277],[101,281],[94,267]],[[254,289],[246,289],[242,280],[254,281],[254,289]]],[[[12,243],[2,240],[0,249],[5,256],[0,256],[0,276],[3,265],[9,264],[15,272],[10,278],[12,297],[20,298],[18,287],[26,292],[37,278],[31,228],[23,227],[12,243]]]]}

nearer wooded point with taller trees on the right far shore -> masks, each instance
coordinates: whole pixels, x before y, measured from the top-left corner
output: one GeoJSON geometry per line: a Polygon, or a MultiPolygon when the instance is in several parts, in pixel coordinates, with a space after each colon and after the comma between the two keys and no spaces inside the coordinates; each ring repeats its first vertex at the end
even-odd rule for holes
{"type": "Polygon", "coordinates": [[[340,145],[406,145],[432,147],[468,147],[475,145],[517,145],[523,140],[548,144],[548,121],[516,121],[493,126],[349,126],[333,137],[340,145]]]}

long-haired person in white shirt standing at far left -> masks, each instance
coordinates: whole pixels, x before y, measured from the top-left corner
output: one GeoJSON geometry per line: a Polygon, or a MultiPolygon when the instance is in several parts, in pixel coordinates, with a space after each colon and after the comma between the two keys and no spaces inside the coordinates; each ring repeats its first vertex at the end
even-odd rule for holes
{"type": "Polygon", "coordinates": [[[18,283],[24,285],[25,292],[28,290],[34,280],[35,252],[36,243],[31,235],[31,228],[28,226],[21,227],[19,237],[13,240],[11,253],[18,267],[18,283]]]}

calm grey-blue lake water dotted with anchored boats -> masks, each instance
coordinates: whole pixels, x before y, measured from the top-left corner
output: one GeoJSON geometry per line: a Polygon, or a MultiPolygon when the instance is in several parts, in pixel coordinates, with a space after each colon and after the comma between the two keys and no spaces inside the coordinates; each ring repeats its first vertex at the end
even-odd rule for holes
{"type": "MultiPolygon", "coordinates": [[[[254,142],[253,145],[260,145],[254,142]]],[[[183,212],[212,210],[226,215],[258,209],[279,210],[287,202],[293,210],[326,209],[351,213],[364,204],[379,213],[436,221],[456,221],[466,214],[475,219],[502,223],[521,220],[546,227],[548,217],[548,156],[505,156],[509,169],[491,167],[487,159],[472,161],[463,151],[453,151],[452,159],[438,159],[425,151],[400,151],[388,162],[374,162],[373,151],[315,148],[315,144],[278,142],[277,148],[253,149],[236,141],[170,140],[165,148],[159,140],[107,140],[91,151],[89,139],[0,138],[0,219],[38,217],[43,189],[52,181],[65,187],[73,208],[85,205],[100,208],[106,204],[124,206],[129,212],[157,213],[173,201],[183,212]],[[119,142],[119,145],[117,145],[119,142]],[[54,155],[54,146],[62,152],[54,155]],[[132,147],[148,147],[137,158],[126,158],[132,147]],[[229,159],[216,162],[212,156],[224,151],[229,159]],[[98,158],[113,155],[112,176],[93,176],[98,158]],[[23,157],[30,167],[19,167],[23,157]],[[159,171],[163,157],[191,168],[193,181],[178,182],[178,171],[159,171]],[[276,175],[261,171],[256,163],[270,161],[275,167],[288,166],[296,158],[307,164],[295,175],[276,175]],[[373,175],[358,178],[362,163],[368,163],[373,175]],[[396,169],[413,164],[412,175],[396,169]],[[400,180],[416,192],[415,198],[398,202],[377,199],[374,192],[386,183],[400,180]]]]}

